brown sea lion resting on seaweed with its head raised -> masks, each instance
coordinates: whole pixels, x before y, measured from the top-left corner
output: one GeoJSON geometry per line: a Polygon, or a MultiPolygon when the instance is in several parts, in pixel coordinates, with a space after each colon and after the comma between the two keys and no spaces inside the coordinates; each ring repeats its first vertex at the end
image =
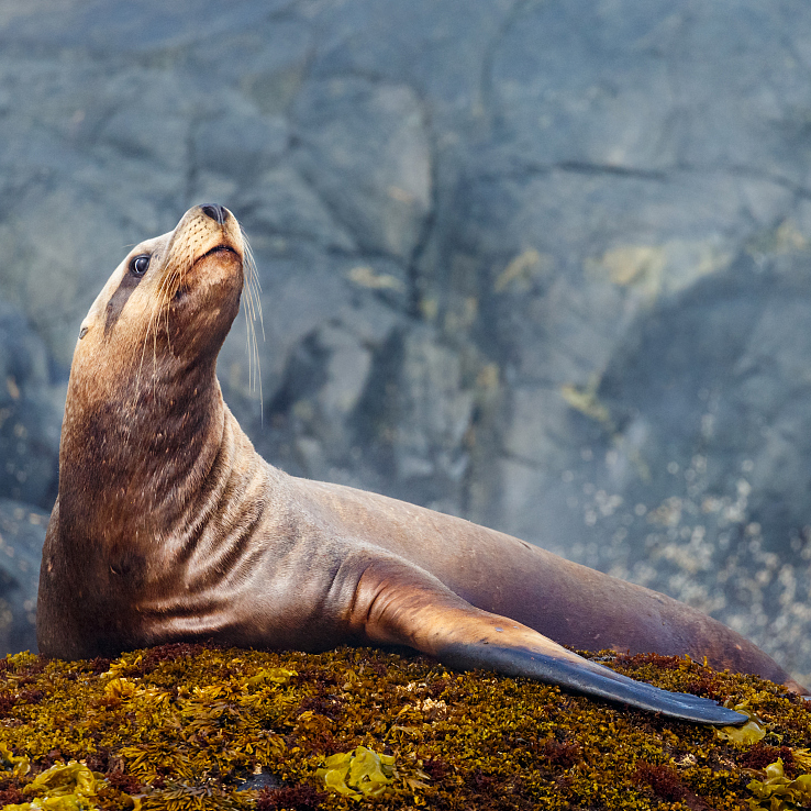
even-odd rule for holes
{"type": "Polygon", "coordinates": [[[215,375],[254,273],[234,215],[195,207],[130,252],[90,308],[43,551],[43,654],[207,638],[409,645],[452,667],[716,724],[745,719],[562,644],[707,656],[802,691],[742,636],[667,597],[462,519],[268,465],[215,375]]]}

